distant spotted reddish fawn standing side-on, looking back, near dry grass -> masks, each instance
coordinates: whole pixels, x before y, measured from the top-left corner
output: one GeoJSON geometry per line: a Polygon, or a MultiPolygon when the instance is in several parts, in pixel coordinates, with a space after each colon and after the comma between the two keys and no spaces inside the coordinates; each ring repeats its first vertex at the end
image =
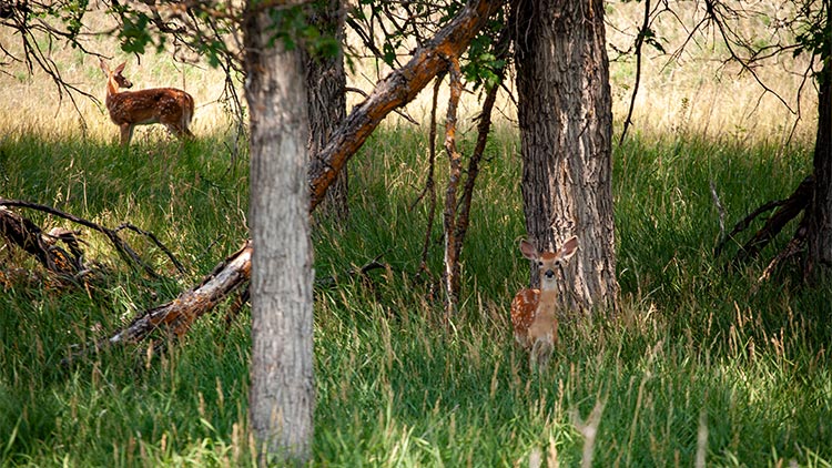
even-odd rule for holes
{"type": "Polygon", "coordinates": [[[101,70],[106,74],[106,110],[110,119],[121,129],[121,144],[126,146],[133,138],[135,125],[161,123],[180,139],[192,138],[187,130],[193,116],[193,98],[175,88],[154,88],[140,91],[121,91],[133,83],[124,78],[125,63],[110,70],[101,59],[101,70]]]}

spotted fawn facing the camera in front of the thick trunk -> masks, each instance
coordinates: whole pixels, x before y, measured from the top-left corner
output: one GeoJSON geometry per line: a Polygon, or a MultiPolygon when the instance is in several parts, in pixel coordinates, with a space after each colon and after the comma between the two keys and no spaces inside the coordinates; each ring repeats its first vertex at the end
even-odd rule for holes
{"type": "Polygon", "coordinates": [[[520,252],[537,262],[540,274],[539,289],[521,289],[511,301],[511,325],[515,339],[530,348],[530,365],[546,368],[551,352],[558,343],[558,289],[555,268],[578,250],[578,237],[571,236],[558,252],[538,252],[531,243],[522,241],[520,252]]]}

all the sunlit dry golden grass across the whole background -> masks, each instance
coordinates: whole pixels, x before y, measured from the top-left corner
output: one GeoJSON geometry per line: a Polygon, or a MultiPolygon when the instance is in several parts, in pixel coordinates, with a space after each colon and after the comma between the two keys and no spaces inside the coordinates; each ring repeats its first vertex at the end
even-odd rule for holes
{"type": "MultiPolygon", "coordinates": [[[[608,8],[608,41],[610,58],[610,81],[613,96],[613,114],[617,132],[627,113],[632,94],[635,59],[620,57],[613,49],[628,49],[640,23],[642,3],[622,2],[608,8]]],[[[688,24],[692,24],[701,12],[696,4],[674,6],[688,24]]],[[[772,13],[774,14],[774,13],[772,13]]],[[[98,26],[105,24],[105,18],[93,18],[98,26]]],[[[691,41],[683,53],[671,58],[687,39],[687,32],[670,16],[662,16],[653,28],[668,53],[646,47],[642,80],[633,113],[635,131],[688,134],[702,134],[718,139],[767,140],[782,143],[791,134],[798,116],[774,94],[767,93],[748,72],[741,73],[739,65],[723,63],[727,50],[712,37],[699,35],[691,41]]],[[[743,23],[742,28],[760,28],[764,24],[743,23]]],[[[17,37],[8,30],[0,30],[0,42],[16,50],[17,37]]],[[[227,126],[227,114],[221,102],[223,75],[219,70],[205,65],[177,63],[170,55],[145,54],[136,57],[119,52],[114,40],[94,38],[89,40],[89,49],[113,55],[112,62],[128,61],[125,75],[136,88],[177,87],[190,92],[197,103],[194,118],[194,132],[222,131],[227,126]]],[[[103,100],[104,79],[98,68],[98,58],[85,55],[77,49],[57,47],[51,54],[68,82],[77,85],[100,100],[103,100]]],[[[795,95],[801,85],[797,72],[805,69],[804,58],[783,59],[771,67],[759,70],[767,87],[775,91],[789,105],[797,110],[795,95]]],[[[114,139],[115,129],[110,123],[101,103],[87,98],[78,98],[75,109],[72,102],[61,100],[55,85],[40,72],[30,77],[22,64],[4,64],[0,73],[0,128],[9,132],[35,132],[45,135],[87,135],[95,139],[114,139]],[[22,110],[22,111],[21,111],[22,110]]],[[[349,77],[349,84],[369,91],[374,81],[388,72],[383,64],[363,63],[349,77]]],[[[513,83],[508,84],[509,89],[513,83]]],[[[797,124],[795,138],[812,138],[816,121],[816,92],[811,82],[804,87],[800,102],[802,119],[797,124]]],[[[357,93],[349,94],[352,103],[362,100],[357,93]]],[[[477,95],[468,93],[460,104],[463,119],[470,119],[478,111],[477,95]]],[[[440,99],[440,102],[443,100],[440,99]]],[[[425,90],[416,101],[407,106],[407,113],[417,121],[425,121],[429,113],[430,90],[425,90]]],[[[498,108],[499,118],[514,121],[516,112],[510,99],[504,95],[498,108]]],[[[439,110],[439,115],[444,109],[439,110]]],[[[392,115],[387,123],[403,122],[392,115]]],[[[463,129],[470,125],[463,125],[463,129]]],[[[138,138],[146,135],[148,128],[140,129],[138,138]]],[[[160,132],[161,129],[152,132],[160,132]]],[[[155,138],[155,136],[153,136],[155,138]]]]}

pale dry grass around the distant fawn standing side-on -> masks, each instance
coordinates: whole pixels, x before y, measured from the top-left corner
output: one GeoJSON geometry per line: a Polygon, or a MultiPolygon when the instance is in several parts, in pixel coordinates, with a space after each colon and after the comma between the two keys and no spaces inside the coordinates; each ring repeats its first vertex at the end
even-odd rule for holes
{"type": "MultiPolygon", "coordinates": [[[[103,14],[89,16],[90,30],[112,26],[103,14]]],[[[19,37],[0,28],[0,43],[16,53],[21,50],[19,37]]],[[[148,53],[142,57],[120,51],[113,38],[87,37],[84,47],[104,57],[111,65],[128,62],[124,75],[134,83],[133,89],[173,87],[194,96],[196,109],[192,130],[199,135],[227,126],[229,118],[221,102],[224,77],[221,71],[206,65],[174,62],[168,54],[148,53]]],[[[67,83],[98,99],[77,94],[74,99],[58,87],[49,75],[37,69],[30,74],[24,63],[7,60],[0,65],[0,128],[2,133],[34,133],[50,138],[88,136],[95,140],[118,141],[118,130],[110,122],[103,105],[105,78],[99,69],[99,58],[79,49],[55,43],[49,58],[54,61],[67,83]]],[[[163,132],[162,128],[139,129],[141,139],[149,132],[163,132]]]]}

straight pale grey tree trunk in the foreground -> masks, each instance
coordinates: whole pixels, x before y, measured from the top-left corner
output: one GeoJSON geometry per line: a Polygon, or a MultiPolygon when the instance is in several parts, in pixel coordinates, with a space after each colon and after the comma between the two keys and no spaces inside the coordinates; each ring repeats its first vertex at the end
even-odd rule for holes
{"type": "Polygon", "coordinates": [[[251,109],[251,425],[261,465],[306,461],[314,410],[308,114],[302,54],[272,42],[278,9],[245,24],[251,109]]]}

